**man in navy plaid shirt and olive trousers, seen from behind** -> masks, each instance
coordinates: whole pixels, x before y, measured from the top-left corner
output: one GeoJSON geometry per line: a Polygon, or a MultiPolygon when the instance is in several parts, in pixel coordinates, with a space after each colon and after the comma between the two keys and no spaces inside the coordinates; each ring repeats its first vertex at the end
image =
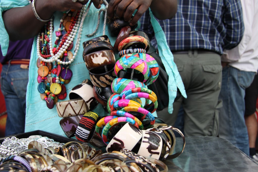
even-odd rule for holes
{"type": "MultiPolygon", "coordinates": [[[[157,48],[148,11],[140,19],[157,48]]],[[[173,113],[157,112],[174,125],[182,105],[186,136],[218,136],[218,101],[221,90],[224,50],[234,48],[243,36],[244,24],[239,0],[178,0],[178,12],[170,20],[158,20],[165,32],[172,57],[182,77],[187,98],[173,103],[173,113]]],[[[170,84],[170,83],[168,83],[170,84]]]]}

